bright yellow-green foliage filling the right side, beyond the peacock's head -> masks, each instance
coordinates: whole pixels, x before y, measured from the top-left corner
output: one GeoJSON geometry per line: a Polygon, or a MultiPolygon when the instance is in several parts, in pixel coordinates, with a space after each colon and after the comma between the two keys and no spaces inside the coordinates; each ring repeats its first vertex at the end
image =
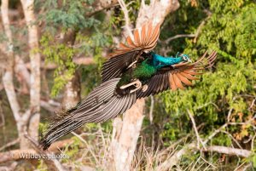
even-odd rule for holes
{"type": "MultiPolygon", "coordinates": [[[[193,33],[202,20],[206,20],[206,23],[196,42],[194,38],[172,42],[173,54],[183,51],[193,59],[194,56],[201,56],[207,49],[210,52],[214,49],[218,52],[218,59],[217,64],[200,81],[195,81],[193,87],[185,91],[167,91],[160,95],[170,118],[164,122],[165,129],[161,134],[164,140],[177,140],[190,132],[188,109],[195,113],[198,124],[206,124],[203,130],[207,134],[226,122],[230,110],[232,122],[244,122],[253,115],[253,111],[248,108],[255,96],[255,3],[243,0],[210,0],[208,3],[200,1],[199,6],[193,9],[188,1],[181,1],[181,7],[175,17],[166,20],[161,37],[193,33]],[[212,13],[208,18],[203,11],[207,6],[212,13]],[[191,20],[195,15],[198,15],[196,20],[191,20]],[[170,30],[169,22],[178,22],[172,26],[172,33],[167,33],[170,30]],[[239,115],[242,117],[238,117],[239,115]]],[[[250,125],[247,128],[230,126],[228,129],[237,135],[238,140],[239,137],[247,137],[248,132],[253,133],[250,125]]],[[[212,143],[230,145],[230,138],[220,134],[212,143]]]]}

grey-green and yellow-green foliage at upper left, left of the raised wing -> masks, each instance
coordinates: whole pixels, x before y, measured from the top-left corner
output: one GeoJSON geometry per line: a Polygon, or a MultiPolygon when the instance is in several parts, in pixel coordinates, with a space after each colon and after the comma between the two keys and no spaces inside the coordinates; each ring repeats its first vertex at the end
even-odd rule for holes
{"type": "Polygon", "coordinates": [[[78,69],[78,66],[73,63],[74,56],[83,54],[93,56],[99,70],[103,61],[102,48],[108,47],[112,42],[109,24],[102,22],[104,20],[102,14],[86,16],[92,11],[91,3],[93,3],[91,0],[66,0],[61,3],[47,0],[42,4],[47,12],[39,18],[46,24],[44,35],[40,40],[41,53],[44,54],[46,63],[53,62],[57,65],[54,72],[54,85],[51,88],[51,95],[54,97],[78,69]],[[85,28],[86,31],[84,31],[85,28]],[[74,44],[56,41],[57,30],[61,30],[62,35],[68,31],[74,31],[74,44]]]}

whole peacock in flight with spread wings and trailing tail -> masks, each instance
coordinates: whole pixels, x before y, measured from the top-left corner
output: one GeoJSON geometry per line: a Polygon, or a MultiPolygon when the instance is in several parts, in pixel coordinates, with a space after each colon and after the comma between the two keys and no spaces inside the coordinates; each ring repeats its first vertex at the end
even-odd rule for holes
{"type": "Polygon", "coordinates": [[[192,63],[187,54],[155,54],[159,35],[160,24],[149,22],[127,37],[126,43],[120,43],[102,66],[102,84],[49,127],[40,141],[43,149],[84,123],[102,123],[124,113],[137,99],[192,85],[191,80],[198,79],[195,76],[211,67],[217,57],[215,51],[208,56],[206,52],[192,63]]]}

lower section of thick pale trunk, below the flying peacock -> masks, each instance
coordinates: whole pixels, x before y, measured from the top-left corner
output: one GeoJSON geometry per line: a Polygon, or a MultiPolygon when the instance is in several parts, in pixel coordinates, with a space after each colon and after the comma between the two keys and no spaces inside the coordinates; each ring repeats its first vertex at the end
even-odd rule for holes
{"type": "Polygon", "coordinates": [[[114,119],[108,166],[110,170],[131,170],[131,161],[143,124],[144,106],[145,100],[137,100],[136,104],[125,112],[123,121],[120,117],[114,119]]]}

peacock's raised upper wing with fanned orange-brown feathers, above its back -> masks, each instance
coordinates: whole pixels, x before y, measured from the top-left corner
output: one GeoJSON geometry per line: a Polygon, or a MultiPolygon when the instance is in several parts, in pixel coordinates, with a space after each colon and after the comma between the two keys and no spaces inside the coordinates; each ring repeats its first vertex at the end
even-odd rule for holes
{"type": "Polygon", "coordinates": [[[160,24],[144,24],[141,29],[133,32],[133,37],[127,37],[126,43],[120,43],[119,48],[109,54],[110,59],[102,66],[102,82],[119,77],[143,51],[152,50],[160,35],[160,24]]]}

